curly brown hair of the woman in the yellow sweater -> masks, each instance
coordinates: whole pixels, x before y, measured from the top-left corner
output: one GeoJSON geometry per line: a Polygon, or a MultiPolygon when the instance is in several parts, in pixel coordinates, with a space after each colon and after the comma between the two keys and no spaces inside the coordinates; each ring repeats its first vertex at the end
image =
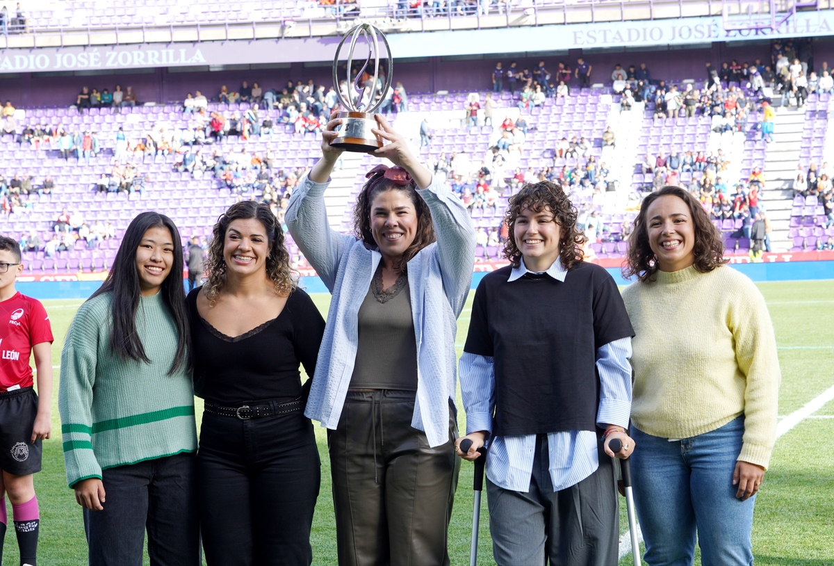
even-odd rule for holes
{"type": "Polygon", "coordinates": [[[669,184],[646,196],[640,205],[640,212],[634,220],[634,231],[631,232],[628,240],[629,248],[625,256],[626,263],[622,270],[623,277],[631,279],[632,275],[637,275],[637,279],[644,283],[655,280],[655,274],[659,268],[655,252],[651,250],[651,245],[649,245],[646,211],[661,196],[676,196],[689,207],[692,215],[692,225],[695,229],[695,244],[692,246],[692,253],[695,255],[695,263],[693,264],[695,269],[701,273],[709,273],[719,265],[726,264],[724,240],[721,238],[721,232],[712,225],[709,215],[701,206],[701,202],[692,196],[688,190],[669,184]]]}

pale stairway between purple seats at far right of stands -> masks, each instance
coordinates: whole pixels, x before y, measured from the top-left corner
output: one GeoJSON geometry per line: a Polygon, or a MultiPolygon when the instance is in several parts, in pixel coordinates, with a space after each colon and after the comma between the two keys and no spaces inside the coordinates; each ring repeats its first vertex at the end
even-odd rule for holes
{"type": "Polygon", "coordinates": [[[761,200],[771,220],[771,247],[774,251],[791,249],[788,225],[791,221],[793,180],[802,142],[805,112],[780,109],[773,120],[773,141],[767,145],[766,183],[761,200]]]}

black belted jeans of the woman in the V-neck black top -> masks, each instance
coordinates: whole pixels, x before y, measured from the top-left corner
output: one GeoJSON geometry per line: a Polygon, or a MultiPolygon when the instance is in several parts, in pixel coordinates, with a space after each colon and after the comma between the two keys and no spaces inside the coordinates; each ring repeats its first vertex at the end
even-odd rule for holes
{"type": "Polygon", "coordinates": [[[197,462],[209,566],[312,563],[321,463],[309,418],[291,412],[241,420],[203,412],[197,462]]]}

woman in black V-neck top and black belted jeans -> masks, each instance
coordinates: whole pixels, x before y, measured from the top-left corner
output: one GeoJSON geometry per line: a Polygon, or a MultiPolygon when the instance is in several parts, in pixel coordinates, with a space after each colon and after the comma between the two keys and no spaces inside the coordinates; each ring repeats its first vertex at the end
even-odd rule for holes
{"type": "Polygon", "coordinates": [[[188,294],[194,392],[205,399],[198,452],[206,562],[313,560],[319,452],[302,410],[324,320],[296,286],[284,232],[242,201],[214,225],[207,283],[188,294]]]}

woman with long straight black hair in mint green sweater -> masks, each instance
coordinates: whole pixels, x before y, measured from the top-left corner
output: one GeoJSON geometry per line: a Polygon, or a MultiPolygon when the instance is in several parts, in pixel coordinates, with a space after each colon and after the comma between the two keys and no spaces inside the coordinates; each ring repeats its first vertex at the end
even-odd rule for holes
{"type": "Polygon", "coordinates": [[[153,566],[199,561],[182,273],[171,219],[138,215],[63,346],[63,453],[90,566],[141,563],[146,528],[153,566]]]}

